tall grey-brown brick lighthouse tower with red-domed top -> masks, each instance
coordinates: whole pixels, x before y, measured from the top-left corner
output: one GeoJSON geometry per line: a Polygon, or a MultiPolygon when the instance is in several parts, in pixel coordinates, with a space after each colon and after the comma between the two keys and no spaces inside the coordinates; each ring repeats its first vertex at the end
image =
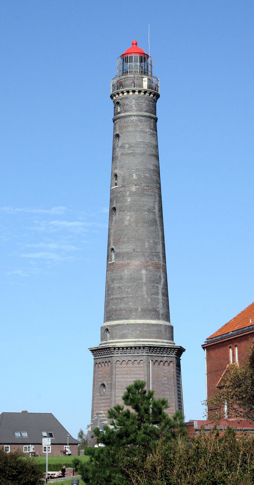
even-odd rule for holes
{"type": "MultiPolygon", "coordinates": [[[[94,356],[92,426],[145,380],[168,413],[183,411],[180,357],[170,323],[152,58],[132,46],[117,61],[104,323],[94,356]]],[[[90,440],[90,444],[92,441],[90,440]]]]}

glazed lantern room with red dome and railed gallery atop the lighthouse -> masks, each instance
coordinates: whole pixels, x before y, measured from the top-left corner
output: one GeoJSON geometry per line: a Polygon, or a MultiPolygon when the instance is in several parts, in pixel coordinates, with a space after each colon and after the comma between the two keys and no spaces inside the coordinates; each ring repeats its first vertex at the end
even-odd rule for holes
{"type": "Polygon", "coordinates": [[[136,40],[117,59],[117,76],[111,81],[111,93],[122,89],[150,89],[159,93],[159,80],[153,76],[152,58],[138,47],[136,40]]]}

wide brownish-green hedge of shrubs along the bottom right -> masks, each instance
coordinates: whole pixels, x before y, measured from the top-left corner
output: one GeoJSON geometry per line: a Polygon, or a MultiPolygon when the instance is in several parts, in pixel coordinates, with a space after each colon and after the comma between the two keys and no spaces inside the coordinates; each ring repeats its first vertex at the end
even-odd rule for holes
{"type": "Polygon", "coordinates": [[[253,485],[254,436],[232,428],[178,436],[149,454],[140,448],[135,459],[122,454],[121,468],[132,485],[253,485]]]}

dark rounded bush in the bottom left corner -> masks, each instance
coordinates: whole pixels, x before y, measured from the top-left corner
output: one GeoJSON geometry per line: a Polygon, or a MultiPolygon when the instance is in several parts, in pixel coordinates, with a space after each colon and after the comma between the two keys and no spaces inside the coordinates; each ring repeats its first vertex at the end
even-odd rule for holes
{"type": "Polygon", "coordinates": [[[36,485],[42,473],[33,458],[0,448],[0,485],[36,485]]]}

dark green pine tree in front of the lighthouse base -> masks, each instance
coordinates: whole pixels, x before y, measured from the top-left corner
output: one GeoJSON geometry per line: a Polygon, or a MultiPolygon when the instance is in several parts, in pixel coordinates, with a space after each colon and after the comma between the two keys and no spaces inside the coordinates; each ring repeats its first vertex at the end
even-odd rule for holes
{"type": "Polygon", "coordinates": [[[108,411],[111,424],[104,426],[104,433],[94,430],[97,442],[105,445],[95,448],[90,463],[81,467],[83,480],[91,485],[129,484],[125,470],[121,468],[123,456],[136,459],[142,450],[150,454],[156,450],[159,440],[172,441],[185,433],[182,413],[177,411],[170,418],[165,409],[166,399],[155,399],[154,391],[146,390],[144,381],[135,381],[123,395],[124,405],[116,404],[108,411]]]}

